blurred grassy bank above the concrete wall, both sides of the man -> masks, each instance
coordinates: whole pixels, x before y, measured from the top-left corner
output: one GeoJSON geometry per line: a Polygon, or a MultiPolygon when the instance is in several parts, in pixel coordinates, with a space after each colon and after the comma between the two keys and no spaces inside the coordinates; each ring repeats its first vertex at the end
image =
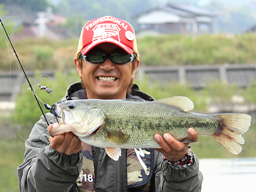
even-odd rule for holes
{"type": "MultiPolygon", "coordinates": [[[[2,34],[0,34],[0,38],[2,34]]],[[[12,51],[0,42],[0,70],[17,69],[12,51]]],[[[205,34],[196,36],[160,35],[137,38],[141,65],[256,64],[256,34],[205,34]]],[[[13,41],[25,69],[70,69],[78,38],[21,39],[13,41]]]]}

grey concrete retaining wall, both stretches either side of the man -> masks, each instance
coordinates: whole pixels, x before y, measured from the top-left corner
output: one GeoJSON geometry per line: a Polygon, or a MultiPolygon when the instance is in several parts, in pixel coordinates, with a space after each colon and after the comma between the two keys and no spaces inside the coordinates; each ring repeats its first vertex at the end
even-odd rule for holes
{"type": "MultiPolygon", "coordinates": [[[[29,79],[34,72],[26,72],[29,79]]],[[[41,73],[53,76],[52,71],[41,73]]],[[[200,65],[200,66],[159,66],[143,67],[137,69],[137,78],[142,79],[145,75],[151,83],[155,81],[177,81],[189,83],[193,88],[205,87],[207,82],[221,80],[230,84],[246,87],[251,81],[256,81],[256,64],[223,64],[223,65],[200,65]]],[[[21,72],[0,73],[0,102],[12,102],[20,92],[21,85],[26,83],[21,72]]],[[[28,85],[29,86],[29,85],[28,85]]]]}

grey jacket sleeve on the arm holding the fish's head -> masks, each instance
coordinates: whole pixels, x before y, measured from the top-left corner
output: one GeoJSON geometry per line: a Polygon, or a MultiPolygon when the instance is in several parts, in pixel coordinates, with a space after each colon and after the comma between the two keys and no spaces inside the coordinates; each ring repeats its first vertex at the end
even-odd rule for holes
{"type": "MultiPolygon", "coordinates": [[[[53,116],[46,116],[53,123],[53,116]]],[[[43,117],[34,125],[25,146],[24,162],[17,168],[21,192],[68,192],[72,188],[82,168],[81,151],[66,155],[52,149],[43,117]]]]}

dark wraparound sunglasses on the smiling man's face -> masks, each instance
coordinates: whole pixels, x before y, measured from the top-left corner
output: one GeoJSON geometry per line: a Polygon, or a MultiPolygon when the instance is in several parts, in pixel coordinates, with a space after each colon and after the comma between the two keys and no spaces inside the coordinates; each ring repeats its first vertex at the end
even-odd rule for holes
{"type": "Polygon", "coordinates": [[[106,54],[99,51],[89,51],[85,55],[81,54],[80,58],[91,63],[101,63],[109,58],[116,64],[125,64],[136,59],[135,55],[130,55],[127,52],[115,52],[111,54],[106,54]]]}

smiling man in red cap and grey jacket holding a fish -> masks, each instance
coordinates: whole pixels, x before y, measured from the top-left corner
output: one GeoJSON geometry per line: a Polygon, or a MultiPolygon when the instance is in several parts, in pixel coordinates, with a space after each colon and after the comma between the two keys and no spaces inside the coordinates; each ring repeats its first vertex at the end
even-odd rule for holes
{"type": "MultiPolygon", "coordinates": [[[[154,100],[133,85],[139,53],[132,26],[111,16],[94,19],[81,31],[74,59],[81,82],[68,87],[66,99],[154,100]]],[[[57,126],[53,115],[48,133],[57,126]]],[[[156,134],[162,149],[122,149],[114,161],[102,148],[85,143],[72,132],[49,137],[41,118],[26,142],[24,162],[18,167],[20,191],[186,191],[201,190],[199,162],[188,143],[170,134],[156,134]],[[159,153],[160,152],[160,153],[159,153]],[[163,157],[164,155],[164,157],[163,157]]],[[[190,139],[197,133],[188,129],[190,139]]]]}

